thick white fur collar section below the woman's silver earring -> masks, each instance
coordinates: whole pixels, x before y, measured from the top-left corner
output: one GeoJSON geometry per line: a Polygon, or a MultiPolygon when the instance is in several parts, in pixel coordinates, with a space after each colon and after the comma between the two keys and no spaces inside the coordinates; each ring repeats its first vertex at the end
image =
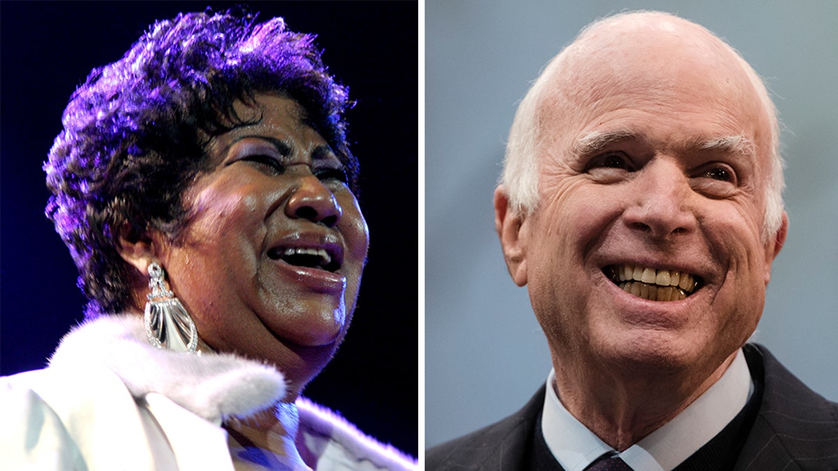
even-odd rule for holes
{"type": "Polygon", "coordinates": [[[142,317],[102,316],[82,323],[61,339],[50,366],[102,365],[142,398],[150,392],[209,422],[246,417],[285,396],[282,373],[236,355],[189,355],[158,349],[147,342],[142,317]]]}

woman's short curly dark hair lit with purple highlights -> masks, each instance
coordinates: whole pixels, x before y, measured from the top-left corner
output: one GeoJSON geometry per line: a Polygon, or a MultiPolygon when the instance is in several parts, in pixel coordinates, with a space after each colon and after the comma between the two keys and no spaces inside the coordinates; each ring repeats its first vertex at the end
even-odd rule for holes
{"type": "Polygon", "coordinates": [[[246,124],[235,101],[277,92],[297,101],[347,168],[347,88],[328,74],[313,36],[282,18],[186,13],[155,23],[127,54],[94,69],[70,98],[44,163],[46,215],[70,247],[87,316],[131,303],[120,233],[157,229],[174,237],[185,222],[181,195],[209,166],[209,139],[246,124]]]}

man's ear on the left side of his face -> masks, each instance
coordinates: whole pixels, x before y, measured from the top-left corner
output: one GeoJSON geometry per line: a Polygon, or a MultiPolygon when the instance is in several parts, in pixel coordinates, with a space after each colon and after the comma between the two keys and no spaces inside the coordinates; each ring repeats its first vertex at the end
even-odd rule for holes
{"type": "Polygon", "coordinates": [[[494,189],[494,229],[498,231],[500,247],[504,251],[506,268],[518,286],[527,282],[526,274],[526,220],[524,215],[510,206],[504,185],[494,189]]]}

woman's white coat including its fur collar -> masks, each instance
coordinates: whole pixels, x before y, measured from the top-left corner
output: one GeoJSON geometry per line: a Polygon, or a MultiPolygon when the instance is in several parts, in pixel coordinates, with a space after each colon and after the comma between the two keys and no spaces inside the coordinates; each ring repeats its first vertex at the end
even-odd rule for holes
{"type": "MultiPolygon", "coordinates": [[[[145,336],[138,316],[99,318],[70,331],[49,368],[3,378],[0,464],[231,468],[221,422],[275,404],[282,374],[235,355],[157,349],[145,336]]],[[[328,409],[305,399],[297,409],[297,448],[317,469],[416,468],[328,409]]]]}

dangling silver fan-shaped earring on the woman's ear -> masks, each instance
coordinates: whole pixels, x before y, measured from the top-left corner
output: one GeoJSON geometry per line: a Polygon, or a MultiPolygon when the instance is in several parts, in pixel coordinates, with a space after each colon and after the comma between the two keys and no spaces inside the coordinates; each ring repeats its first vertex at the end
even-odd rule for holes
{"type": "Polygon", "coordinates": [[[157,262],[148,266],[152,277],[147,295],[146,334],[148,341],[158,349],[170,349],[194,354],[198,348],[198,330],[184,305],[166,286],[163,267],[157,262]]]}

